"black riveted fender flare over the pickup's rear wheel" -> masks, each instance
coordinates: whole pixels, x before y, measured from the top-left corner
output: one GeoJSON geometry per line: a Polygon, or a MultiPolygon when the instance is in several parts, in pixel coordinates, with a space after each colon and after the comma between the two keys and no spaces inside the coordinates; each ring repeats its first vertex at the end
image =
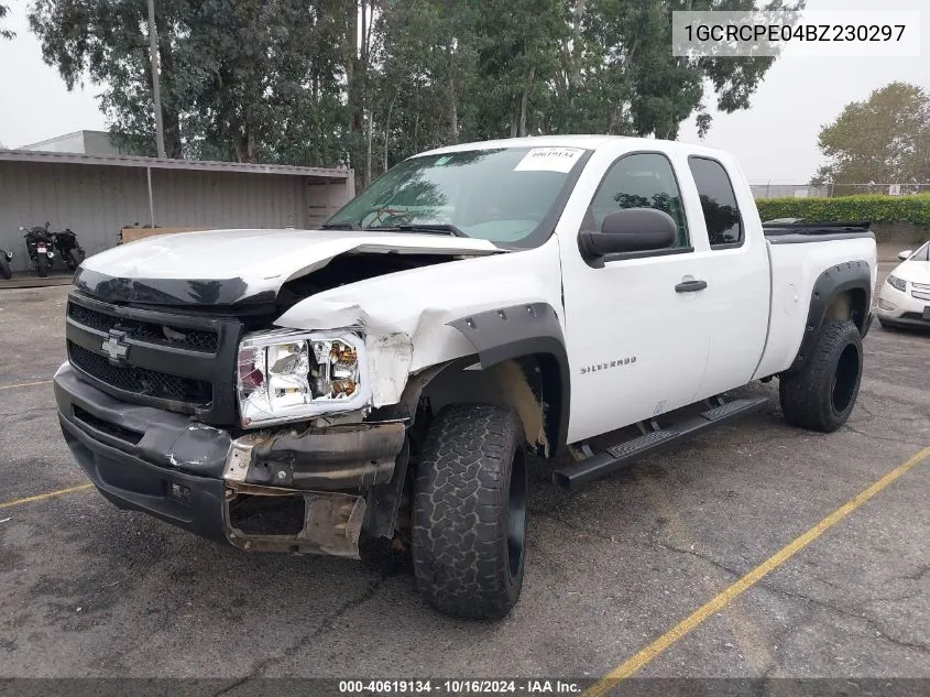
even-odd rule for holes
{"type": "Polygon", "coordinates": [[[860,335],[865,337],[868,331],[869,308],[872,307],[872,269],[865,260],[846,261],[830,266],[813,283],[801,346],[791,366],[784,372],[797,372],[805,367],[820,334],[820,327],[827,316],[830,302],[841,293],[852,290],[861,290],[865,293],[865,307],[862,313],[858,315],[854,313],[852,317],[856,327],[858,327],[860,335]]]}

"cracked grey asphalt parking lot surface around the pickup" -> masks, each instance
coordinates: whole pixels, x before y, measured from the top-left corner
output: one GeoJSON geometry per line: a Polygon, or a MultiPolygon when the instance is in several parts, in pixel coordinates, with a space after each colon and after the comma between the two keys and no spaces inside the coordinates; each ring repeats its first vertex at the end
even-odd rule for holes
{"type": "Polygon", "coordinates": [[[67,290],[0,293],[0,677],[586,678],[636,655],[639,676],[930,677],[930,458],[639,653],[930,445],[930,336],[875,324],[835,434],[786,426],[772,382],[744,389],[765,412],[576,494],[541,466],[523,598],[480,623],[405,573],[250,555],[92,489],[45,497],[86,481],[47,382],[67,290]]]}

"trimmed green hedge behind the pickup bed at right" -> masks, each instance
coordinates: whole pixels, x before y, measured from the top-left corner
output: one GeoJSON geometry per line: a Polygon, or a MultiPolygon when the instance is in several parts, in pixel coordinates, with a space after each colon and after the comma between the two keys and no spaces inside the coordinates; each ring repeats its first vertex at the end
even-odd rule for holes
{"type": "Polygon", "coordinates": [[[930,194],[886,196],[880,194],[835,198],[766,198],[757,200],[763,220],[807,218],[808,220],[868,220],[909,222],[930,228],[930,194]]]}

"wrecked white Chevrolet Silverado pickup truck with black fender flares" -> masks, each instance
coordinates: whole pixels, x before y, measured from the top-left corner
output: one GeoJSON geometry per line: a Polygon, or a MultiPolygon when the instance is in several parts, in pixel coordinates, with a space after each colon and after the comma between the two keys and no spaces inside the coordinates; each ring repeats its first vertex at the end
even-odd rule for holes
{"type": "Polygon", "coordinates": [[[761,409],[726,397],[773,378],[788,424],[839,428],[875,279],[867,227],[764,228],[725,152],[459,144],[321,229],[85,260],[54,389],[116,505],[255,552],[408,552],[437,609],[499,618],[523,582],[532,456],[564,454],[555,481],[579,487],[761,409]]]}

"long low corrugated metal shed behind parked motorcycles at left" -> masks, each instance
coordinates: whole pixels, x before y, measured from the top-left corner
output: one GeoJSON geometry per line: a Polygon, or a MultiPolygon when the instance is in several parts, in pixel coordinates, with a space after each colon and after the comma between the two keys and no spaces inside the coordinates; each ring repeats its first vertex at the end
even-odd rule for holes
{"type": "Polygon", "coordinates": [[[19,227],[46,220],[74,230],[88,255],[135,224],[311,228],[353,195],[351,170],[0,150],[0,249],[24,271],[19,227]]]}

